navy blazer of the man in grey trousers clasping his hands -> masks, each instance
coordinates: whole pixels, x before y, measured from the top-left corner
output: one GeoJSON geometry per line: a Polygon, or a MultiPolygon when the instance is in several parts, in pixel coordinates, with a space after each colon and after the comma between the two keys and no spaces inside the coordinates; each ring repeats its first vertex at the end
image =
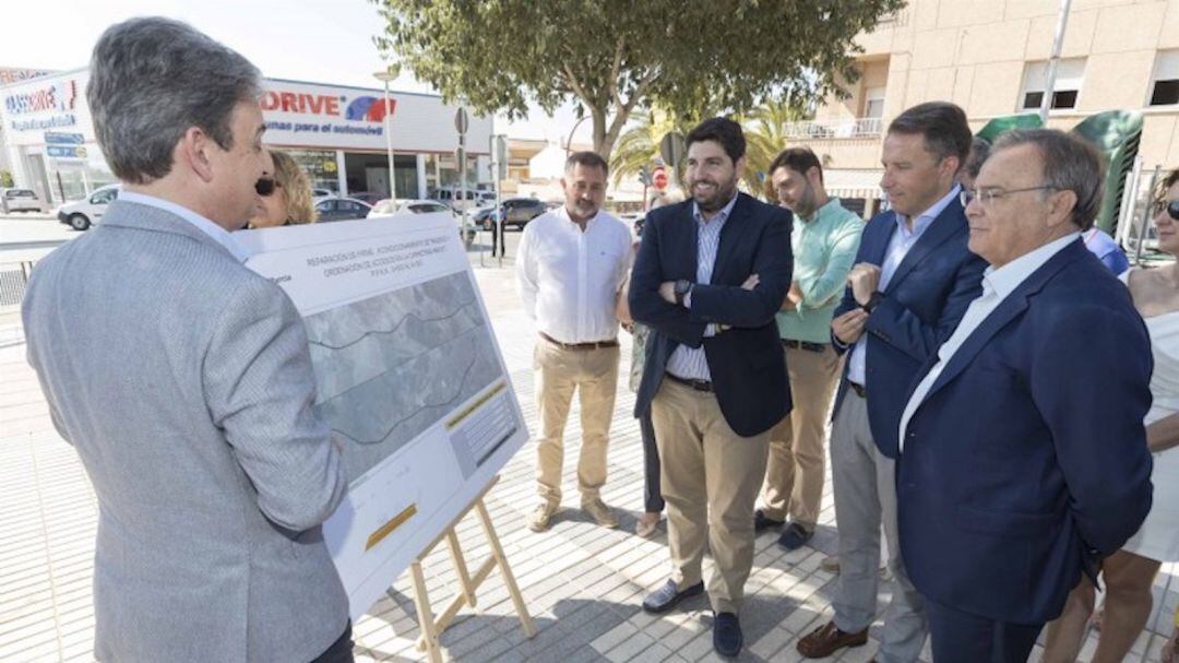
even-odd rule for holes
{"type": "MultiPolygon", "coordinates": [[[[895,230],[895,212],[874,216],[864,227],[856,262],[883,264],[895,230]]],[[[876,446],[888,458],[897,457],[896,429],[907,402],[905,390],[926,359],[954,333],[970,302],[982,294],[982,271],[987,262],[967,249],[967,230],[962,204],[951,201],[905,254],[883,291],[884,298],[864,324],[868,425],[876,446]]],[[[858,306],[848,288],[835,315],[858,306]]],[[[838,342],[835,347],[847,350],[849,359],[832,411],[839,412],[848,393],[851,347],[843,348],[838,342]]]]}

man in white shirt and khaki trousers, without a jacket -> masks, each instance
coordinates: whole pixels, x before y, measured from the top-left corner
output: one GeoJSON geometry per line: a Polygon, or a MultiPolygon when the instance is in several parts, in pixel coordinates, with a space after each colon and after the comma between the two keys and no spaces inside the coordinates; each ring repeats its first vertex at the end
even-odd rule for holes
{"type": "Polygon", "coordinates": [[[520,241],[516,280],[523,310],[539,337],[536,481],[540,505],[528,520],[544,532],[561,506],[565,421],[573,393],[581,401],[581,508],[604,527],[618,518],[601,501],[606,448],[618,387],[618,293],[631,265],[631,231],[600,210],[606,160],[575,152],[565,163],[565,205],[528,223],[520,241]]]}

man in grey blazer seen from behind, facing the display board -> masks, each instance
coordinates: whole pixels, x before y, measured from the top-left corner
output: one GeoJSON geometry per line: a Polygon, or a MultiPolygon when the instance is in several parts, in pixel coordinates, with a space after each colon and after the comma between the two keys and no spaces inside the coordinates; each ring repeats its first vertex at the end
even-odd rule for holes
{"type": "Polygon", "coordinates": [[[33,273],[28,360],[98,495],[100,661],[351,661],[320,524],[347,479],[312,413],[307,336],[229,231],[253,212],[258,71],[191,27],[134,19],[86,91],[123,182],[33,273]]]}

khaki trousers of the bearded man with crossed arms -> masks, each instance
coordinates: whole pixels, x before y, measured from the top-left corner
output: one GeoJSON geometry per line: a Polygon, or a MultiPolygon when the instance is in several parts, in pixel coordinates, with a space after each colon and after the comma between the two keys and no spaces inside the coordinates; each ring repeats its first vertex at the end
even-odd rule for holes
{"type": "Polygon", "coordinates": [[[700,582],[704,541],[716,570],[709,598],[717,612],[740,610],[753,566],[753,505],[765,478],[769,432],[743,438],[720,414],[714,394],[664,380],[651,405],[659,447],[672,577],[700,582]]]}

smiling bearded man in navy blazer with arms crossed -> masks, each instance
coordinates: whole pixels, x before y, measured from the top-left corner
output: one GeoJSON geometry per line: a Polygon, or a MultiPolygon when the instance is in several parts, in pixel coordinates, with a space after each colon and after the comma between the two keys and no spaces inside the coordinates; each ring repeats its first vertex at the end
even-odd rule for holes
{"type": "Polygon", "coordinates": [[[706,540],[712,644],[737,656],[769,432],[790,412],[773,323],[790,285],[790,222],[737,192],[740,125],[707,119],[686,143],[692,199],[647,215],[631,274],[631,313],[651,327],[635,415],[650,408],[654,424],[672,558],[643,609],[666,612],[704,591],[706,540]]]}

